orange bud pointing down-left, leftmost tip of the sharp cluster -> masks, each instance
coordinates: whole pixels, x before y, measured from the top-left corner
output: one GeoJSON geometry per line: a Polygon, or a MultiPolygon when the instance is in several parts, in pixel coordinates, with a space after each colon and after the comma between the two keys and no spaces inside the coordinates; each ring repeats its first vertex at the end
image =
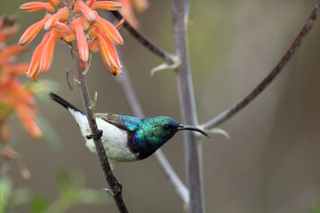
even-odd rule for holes
{"type": "Polygon", "coordinates": [[[39,20],[35,24],[31,25],[24,34],[20,37],[19,44],[25,45],[32,42],[35,39],[36,35],[44,28],[45,22],[51,17],[51,14],[46,14],[43,20],[39,20]]]}

